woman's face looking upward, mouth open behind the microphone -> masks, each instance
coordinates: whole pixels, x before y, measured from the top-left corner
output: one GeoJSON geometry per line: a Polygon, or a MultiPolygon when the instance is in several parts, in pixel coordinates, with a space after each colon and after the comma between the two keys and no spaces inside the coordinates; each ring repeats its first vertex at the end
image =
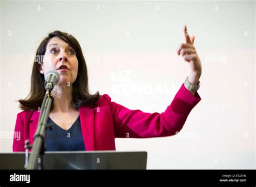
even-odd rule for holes
{"type": "Polygon", "coordinates": [[[78,60],[75,50],[65,41],[58,37],[49,40],[43,59],[43,64],[39,62],[41,74],[49,70],[57,70],[60,80],[57,85],[71,86],[76,81],[78,72],[78,60]],[[65,65],[68,70],[59,69],[65,65]]]}

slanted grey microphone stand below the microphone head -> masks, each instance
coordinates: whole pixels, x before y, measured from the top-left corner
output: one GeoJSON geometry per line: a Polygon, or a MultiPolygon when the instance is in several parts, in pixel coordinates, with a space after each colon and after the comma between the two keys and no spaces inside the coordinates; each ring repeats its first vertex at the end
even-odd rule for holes
{"type": "Polygon", "coordinates": [[[38,166],[41,166],[40,169],[43,169],[42,156],[45,152],[44,141],[45,141],[46,129],[48,128],[47,119],[49,116],[49,111],[51,108],[52,101],[53,101],[53,97],[50,95],[50,89],[46,89],[44,100],[41,106],[41,113],[39,116],[37,130],[33,137],[34,141],[32,146],[32,152],[29,158],[28,165],[26,166],[25,169],[38,169],[38,166]]]}

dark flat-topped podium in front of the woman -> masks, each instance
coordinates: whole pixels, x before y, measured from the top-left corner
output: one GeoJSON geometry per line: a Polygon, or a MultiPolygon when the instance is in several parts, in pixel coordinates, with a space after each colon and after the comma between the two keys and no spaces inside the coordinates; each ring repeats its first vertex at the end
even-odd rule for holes
{"type": "MultiPolygon", "coordinates": [[[[147,152],[45,152],[38,169],[146,169],[146,162],[147,152]]],[[[0,169],[22,170],[24,165],[25,152],[0,154],[0,169]]]]}

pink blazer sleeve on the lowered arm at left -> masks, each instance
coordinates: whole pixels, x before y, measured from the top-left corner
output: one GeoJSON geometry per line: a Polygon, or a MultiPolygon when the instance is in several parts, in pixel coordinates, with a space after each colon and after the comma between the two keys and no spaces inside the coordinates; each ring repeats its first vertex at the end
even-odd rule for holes
{"type": "Polygon", "coordinates": [[[21,113],[17,114],[16,124],[15,124],[15,134],[19,134],[14,136],[14,142],[12,144],[12,151],[13,152],[24,152],[24,124],[21,118],[21,113]]]}

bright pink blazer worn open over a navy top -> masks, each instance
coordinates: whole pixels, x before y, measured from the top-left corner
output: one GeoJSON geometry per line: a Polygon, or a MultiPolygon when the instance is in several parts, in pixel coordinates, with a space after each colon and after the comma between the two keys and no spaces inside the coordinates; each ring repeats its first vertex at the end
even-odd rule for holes
{"type": "MultiPolygon", "coordinates": [[[[80,123],[86,150],[116,150],[115,138],[152,138],[177,134],[188,114],[201,100],[198,92],[193,96],[181,85],[171,104],[162,113],[129,110],[111,101],[109,95],[100,95],[96,107],[79,107],[80,123]]],[[[37,110],[17,114],[14,152],[24,152],[24,141],[33,142],[39,119],[37,110]]]]}

